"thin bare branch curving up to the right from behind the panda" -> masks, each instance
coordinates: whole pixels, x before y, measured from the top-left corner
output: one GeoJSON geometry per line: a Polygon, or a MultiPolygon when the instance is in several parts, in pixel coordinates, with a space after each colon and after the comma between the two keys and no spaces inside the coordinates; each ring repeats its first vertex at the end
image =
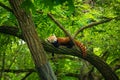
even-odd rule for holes
{"type": "Polygon", "coordinates": [[[99,25],[99,24],[103,24],[103,23],[109,22],[109,21],[111,21],[111,20],[113,20],[113,19],[115,19],[115,18],[110,18],[110,19],[106,19],[106,20],[101,20],[101,21],[99,21],[99,22],[92,22],[92,23],[88,24],[87,26],[83,26],[83,27],[80,28],[78,31],[76,31],[76,33],[75,33],[74,36],[73,36],[73,39],[74,39],[80,32],[82,32],[84,29],[86,29],[86,28],[91,28],[91,27],[93,27],[93,26],[96,26],[96,25],[99,25]]]}

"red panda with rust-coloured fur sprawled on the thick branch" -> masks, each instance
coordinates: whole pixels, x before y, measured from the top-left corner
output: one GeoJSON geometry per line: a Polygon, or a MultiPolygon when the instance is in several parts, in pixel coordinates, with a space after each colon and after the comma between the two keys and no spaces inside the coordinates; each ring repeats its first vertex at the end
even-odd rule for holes
{"type": "MultiPolygon", "coordinates": [[[[53,44],[55,47],[66,46],[67,48],[72,48],[74,43],[69,39],[69,37],[56,37],[55,35],[47,38],[48,42],[53,44]]],[[[76,46],[82,50],[82,55],[86,56],[86,47],[79,41],[75,40],[76,46]]]]}

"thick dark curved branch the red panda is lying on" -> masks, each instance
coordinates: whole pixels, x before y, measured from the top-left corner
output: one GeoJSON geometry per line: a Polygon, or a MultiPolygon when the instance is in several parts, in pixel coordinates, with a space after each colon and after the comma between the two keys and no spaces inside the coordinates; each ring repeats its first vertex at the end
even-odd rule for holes
{"type": "MultiPolygon", "coordinates": [[[[11,29],[12,30],[12,29],[11,29]]],[[[0,31],[3,33],[2,31],[0,31]]],[[[10,34],[13,35],[13,34],[10,34]]],[[[17,32],[15,32],[14,35],[17,35],[16,37],[19,37],[23,39],[23,37],[19,36],[17,32]]],[[[24,40],[24,39],[23,39],[24,40]]],[[[112,69],[109,67],[108,64],[106,64],[102,59],[100,59],[98,56],[93,55],[92,53],[87,54],[86,57],[83,57],[80,51],[78,51],[76,48],[69,49],[69,48],[55,48],[52,44],[45,42],[44,40],[41,40],[43,47],[46,51],[51,52],[51,53],[57,53],[57,54],[66,54],[66,55],[72,55],[72,56],[77,56],[79,58],[83,58],[84,60],[87,60],[90,62],[92,65],[94,65],[100,73],[103,75],[105,80],[119,80],[119,78],[116,76],[116,74],[112,71],[112,69]]]]}

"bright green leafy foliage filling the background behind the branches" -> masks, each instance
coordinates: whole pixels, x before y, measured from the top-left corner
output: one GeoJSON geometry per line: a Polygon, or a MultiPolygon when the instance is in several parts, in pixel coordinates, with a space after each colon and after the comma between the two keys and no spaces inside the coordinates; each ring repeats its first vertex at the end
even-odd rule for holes
{"type": "MultiPolygon", "coordinates": [[[[9,6],[7,0],[0,0],[5,5],[9,6]]],[[[36,25],[38,35],[42,39],[46,39],[51,34],[57,36],[65,36],[59,27],[49,18],[48,12],[64,25],[64,28],[73,35],[79,28],[104,18],[114,18],[120,15],[120,0],[25,0],[22,7],[31,10],[33,20],[36,25]],[[41,11],[42,13],[38,13],[41,11]]],[[[0,7],[0,25],[18,26],[18,23],[12,13],[0,7]]],[[[112,69],[116,65],[120,65],[120,21],[112,20],[109,23],[100,24],[98,26],[85,29],[77,36],[77,40],[83,42],[89,51],[101,57],[107,62],[112,69]]],[[[13,36],[0,34],[0,69],[3,67],[3,59],[5,59],[4,69],[34,69],[34,64],[29,54],[26,44],[20,39],[13,36]],[[3,54],[5,53],[5,58],[3,54]]],[[[51,60],[51,65],[57,74],[59,80],[77,80],[78,77],[66,76],[68,73],[85,75],[90,70],[92,65],[85,61],[78,60],[72,56],[59,58],[61,55],[55,55],[56,61],[51,60]],[[84,67],[84,74],[81,69],[84,67]]],[[[51,59],[51,56],[48,55],[51,59]]],[[[120,68],[116,74],[120,75],[120,68]]],[[[94,70],[98,77],[101,75],[97,70],[94,70]]],[[[3,79],[19,80],[26,73],[3,73],[3,79]]],[[[119,76],[120,78],[120,76],[119,76]]],[[[27,80],[38,79],[36,73],[28,76],[27,80]]]]}

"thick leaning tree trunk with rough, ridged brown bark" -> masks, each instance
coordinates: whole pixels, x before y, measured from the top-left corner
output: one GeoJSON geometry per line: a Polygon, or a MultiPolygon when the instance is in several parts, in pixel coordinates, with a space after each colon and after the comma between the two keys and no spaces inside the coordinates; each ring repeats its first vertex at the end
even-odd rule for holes
{"type": "Polygon", "coordinates": [[[41,80],[57,80],[46,58],[46,53],[41,41],[35,31],[35,25],[31,15],[21,8],[23,1],[24,0],[9,0],[9,3],[18,20],[22,36],[30,49],[38,75],[41,80]]]}

